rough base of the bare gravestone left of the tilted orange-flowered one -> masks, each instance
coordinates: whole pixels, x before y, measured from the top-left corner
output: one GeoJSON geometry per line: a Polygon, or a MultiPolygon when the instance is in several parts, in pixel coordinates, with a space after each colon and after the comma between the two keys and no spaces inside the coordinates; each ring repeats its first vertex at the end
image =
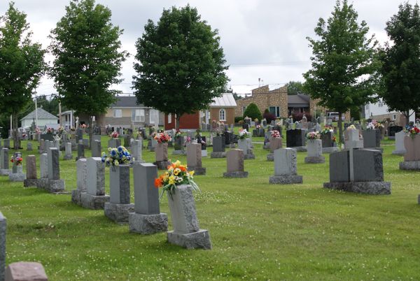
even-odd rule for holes
{"type": "Polygon", "coordinates": [[[138,214],[130,212],[128,225],[131,232],[140,234],[153,234],[168,230],[168,216],[161,212],[155,215],[138,214]]]}

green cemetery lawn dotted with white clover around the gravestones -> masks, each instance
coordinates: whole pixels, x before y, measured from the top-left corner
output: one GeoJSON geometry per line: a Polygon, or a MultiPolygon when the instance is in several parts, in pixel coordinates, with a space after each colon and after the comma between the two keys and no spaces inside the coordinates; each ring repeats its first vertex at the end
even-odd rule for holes
{"type": "MultiPolygon", "coordinates": [[[[107,140],[102,138],[102,147],[107,140]]],[[[195,177],[202,190],[195,194],[197,215],[201,228],[209,229],[213,250],[169,245],[166,233],[130,233],[103,210],[73,205],[70,194],[24,189],[22,182],[1,177],[6,262],[39,261],[50,280],[420,279],[420,174],[398,169],[402,157],[391,154],[393,145],[383,146],[388,196],[323,189],[328,154],[325,164],[304,164],[306,152],[298,152],[304,183],[269,185],[274,162],[266,161],[261,144],[254,147],[256,159],[245,161],[248,178],[222,178],[226,159],[210,157],[203,159],[207,175],[195,177]]],[[[28,152],[22,152],[25,164],[28,152]]],[[[90,156],[90,150],[85,153],[90,156]]],[[[38,152],[31,154],[39,165],[38,152]]],[[[172,156],[172,149],[169,154],[186,161],[172,156]]],[[[144,151],[144,159],[153,161],[154,153],[144,151]]],[[[60,161],[60,168],[71,192],[75,161],[60,161]]],[[[106,193],[108,177],[106,168],[106,193]]],[[[169,215],[166,196],[161,211],[169,215]]]]}

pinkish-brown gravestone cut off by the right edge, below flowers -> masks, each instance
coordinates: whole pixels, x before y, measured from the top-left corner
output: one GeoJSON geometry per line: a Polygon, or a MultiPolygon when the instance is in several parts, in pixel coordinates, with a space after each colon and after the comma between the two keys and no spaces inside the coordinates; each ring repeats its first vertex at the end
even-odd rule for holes
{"type": "Polygon", "coordinates": [[[404,137],[404,161],[400,162],[400,170],[420,170],[420,129],[414,127],[404,137]]]}

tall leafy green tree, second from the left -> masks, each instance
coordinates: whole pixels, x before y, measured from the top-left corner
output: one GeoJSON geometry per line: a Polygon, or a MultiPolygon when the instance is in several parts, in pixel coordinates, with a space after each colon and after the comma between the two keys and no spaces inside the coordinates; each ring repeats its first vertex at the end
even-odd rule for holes
{"type": "Polygon", "coordinates": [[[122,81],[118,77],[128,55],[118,50],[121,34],[123,29],[111,23],[111,10],[94,0],[72,0],[52,30],[50,75],[62,103],[76,114],[99,115],[116,101],[119,91],[110,87],[122,81]]]}

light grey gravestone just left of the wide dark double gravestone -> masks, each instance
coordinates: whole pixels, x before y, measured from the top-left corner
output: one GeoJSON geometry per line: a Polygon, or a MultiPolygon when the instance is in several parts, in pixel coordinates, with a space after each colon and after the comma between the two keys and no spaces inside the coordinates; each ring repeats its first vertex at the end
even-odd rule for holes
{"type": "Polygon", "coordinates": [[[274,150],[274,176],[269,183],[275,185],[290,185],[302,183],[302,175],[297,175],[297,152],[293,148],[274,150]]]}

